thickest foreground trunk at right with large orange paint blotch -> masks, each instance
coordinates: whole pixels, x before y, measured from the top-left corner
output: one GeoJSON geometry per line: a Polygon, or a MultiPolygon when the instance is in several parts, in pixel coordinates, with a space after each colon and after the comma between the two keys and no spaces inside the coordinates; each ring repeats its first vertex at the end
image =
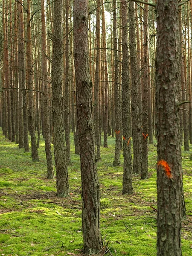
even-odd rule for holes
{"type": "Polygon", "coordinates": [[[180,256],[178,1],[157,1],[157,256],[180,256]]]}

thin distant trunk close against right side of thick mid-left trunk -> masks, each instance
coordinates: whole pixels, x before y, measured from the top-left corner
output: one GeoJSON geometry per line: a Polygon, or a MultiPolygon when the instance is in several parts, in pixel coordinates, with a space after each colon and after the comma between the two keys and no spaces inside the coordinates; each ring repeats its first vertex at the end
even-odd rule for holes
{"type": "Polygon", "coordinates": [[[65,22],[65,96],[64,96],[64,128],[67,163],[70,163],[70,104],[69,104],[69,0],[66,0],[66,22],[65,22]]]}

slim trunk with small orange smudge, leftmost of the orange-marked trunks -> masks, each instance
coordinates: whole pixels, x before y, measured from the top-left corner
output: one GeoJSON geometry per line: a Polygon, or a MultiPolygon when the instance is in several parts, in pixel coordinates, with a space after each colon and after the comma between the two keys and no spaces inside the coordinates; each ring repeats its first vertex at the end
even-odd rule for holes
{"type": "Polygon", "coordinates": [[[114,64],[115,64],[115,90],[114,90],[114,104],[115,104],[115,159],[113,166],[120,166],[120,106],[119,106],[119,65],[117,54],[117,24],[116,24],[116,0],[113,0],[113,43],[114,43],[114,64]]]}

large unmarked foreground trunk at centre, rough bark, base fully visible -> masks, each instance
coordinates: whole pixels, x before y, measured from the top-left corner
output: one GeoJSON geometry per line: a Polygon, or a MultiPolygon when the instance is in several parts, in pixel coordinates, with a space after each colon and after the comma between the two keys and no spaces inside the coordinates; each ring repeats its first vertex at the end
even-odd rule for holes
{"type": "Polygon", "coordinates": [[[74,1],[74,64],[81,159],[82,231],[84,253],[92,255],[102,249],[102,239],[99,227],[100,191],[93,132],[93,85],[89,74],[88,61],[87,8],[87,0],[74,1]]]}

